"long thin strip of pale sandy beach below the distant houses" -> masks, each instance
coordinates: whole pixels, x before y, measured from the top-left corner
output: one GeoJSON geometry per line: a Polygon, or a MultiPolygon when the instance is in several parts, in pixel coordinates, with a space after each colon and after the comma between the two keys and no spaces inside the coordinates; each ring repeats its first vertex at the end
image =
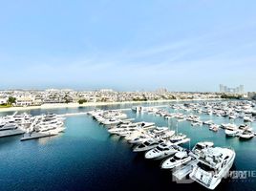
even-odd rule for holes
{"type": "Polygon", "coordinates": [[[122,101],[122,102],[87,102],[83,104],[79,103],[57,103],[57,104],[43,104],[40,106],[28,106],[28,107],[10,107],[0,108],[2,112],[16,112],[27,111],[36,109],[57,109],[57,108],[78,108],[78,107],[95,107],[95,106],[107,106],[107,105],[121,105],[121,104],[141,104],[141,103],[162,103],[162,102],[181,102],[181,101],[214,101],[224,100],[223,98],[205,98],[205,99],[170,99],[170,100],[151,100],[151,101],[122,101]]]}

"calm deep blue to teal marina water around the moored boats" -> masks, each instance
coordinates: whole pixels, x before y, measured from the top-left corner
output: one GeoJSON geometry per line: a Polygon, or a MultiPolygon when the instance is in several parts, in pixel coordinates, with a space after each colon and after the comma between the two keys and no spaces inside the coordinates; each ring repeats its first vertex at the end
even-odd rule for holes
{"type": "MultiPolygon", "coordinates": [[[[157,105],[157,104],[151,104],[157,105]]],[[[99,107],[129,108],[131,105],[99,107]]],[[[32,115],[83,112],[94,109],[32,110],[32,115]]],[[[166,108],[168,109],[168,108],[166,108]]],[[[168,109],[173,112],[173,110],[168,109]]],[[[175,120],[164,120],[147,114],[126,112],[137,121],[154,121],[160,126],[176,129],[175,120]]],[[[1,116],[7,115],[0,114],[1,116]]],[[[229,122],[228,118],[202,115],[203,120],[229,122]]],[[[238,119],[235,123],[242,123],[238,119]]],[[[198,183],[181,184],[172,181],[170,171],[160,169],[160,161],[149,161],[133,153],[131,145],[110,136],[106,129],[89,116],[67,117],[64,134],[21,142],[20,136],[0,138],[0,190],[204,190],[198,183]]],[[[255,124],[253,124],[255,128],[255,124]]],[[[256,138],[241,141],[226,138],[224,131],[211,132],[207,127],[192,127],[179,123],[179,132],[191,138],[189,148],[201,140],[214,141],[217,146],[231,146],[236,151],[232,170],[256,171],[256,138]]],[[[255,190],[256,178],[224,180],[217,190],[255,190]]]]}

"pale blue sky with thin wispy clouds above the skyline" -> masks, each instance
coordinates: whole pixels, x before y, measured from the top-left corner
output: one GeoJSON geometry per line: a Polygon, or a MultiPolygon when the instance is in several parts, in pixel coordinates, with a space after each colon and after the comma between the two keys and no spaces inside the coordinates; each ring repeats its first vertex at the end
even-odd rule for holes
{"type": "Polygon", "coordinates": [[[16,0],[0,89],[256,91],[256,1],[16,0]]]}

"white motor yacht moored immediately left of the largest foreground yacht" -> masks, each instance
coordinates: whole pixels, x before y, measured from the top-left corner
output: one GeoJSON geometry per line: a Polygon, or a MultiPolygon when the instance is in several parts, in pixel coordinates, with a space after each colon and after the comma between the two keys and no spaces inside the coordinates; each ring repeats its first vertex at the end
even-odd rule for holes
{"type": "Polygon", "coordinates": [[[184,163],[187,163],[192,159],[191,156],[188,155],[186,151],[181,151],[176,153],[173,157],[165,159],[161,163],[161,168],[163,169],[172,169],[175,167],[179,167],[184,163]]]}

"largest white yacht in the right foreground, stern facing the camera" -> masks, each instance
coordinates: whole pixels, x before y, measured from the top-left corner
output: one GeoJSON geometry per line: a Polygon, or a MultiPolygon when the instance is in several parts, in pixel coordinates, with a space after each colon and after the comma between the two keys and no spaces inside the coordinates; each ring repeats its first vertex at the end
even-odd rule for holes
{"type": "Polygon", "coordinates": [[[232,149],[209,147],[202,150],[197,165],[189,177],[208,189],[215,189],[228,173],[235,159],[232,149]]]}

